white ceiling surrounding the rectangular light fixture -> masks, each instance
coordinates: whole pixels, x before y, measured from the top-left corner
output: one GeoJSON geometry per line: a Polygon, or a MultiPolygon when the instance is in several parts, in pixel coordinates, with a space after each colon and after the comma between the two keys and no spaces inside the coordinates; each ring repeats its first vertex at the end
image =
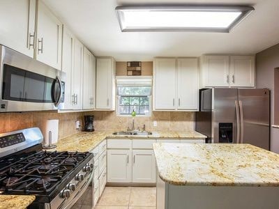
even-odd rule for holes
{"type": "Polygon", "coordinates": [[[151,61],[154,56],[256,54],[279,42],[279,0],[44,0],[95,56],[151,61]],[[248,4],[251,13],[230,33],[122,33],[115,7],[143,3],[248,4]]]}

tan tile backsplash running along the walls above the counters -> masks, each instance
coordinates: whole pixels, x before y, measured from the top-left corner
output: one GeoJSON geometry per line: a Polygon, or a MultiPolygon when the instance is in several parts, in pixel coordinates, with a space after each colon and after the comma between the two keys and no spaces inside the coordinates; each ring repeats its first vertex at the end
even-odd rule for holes
{"type": "MultiPolygon", "coordinates": [[[[59,119],[59,139],[77,133],[75,121],[80,120],[83,125],[84,115],[95,116],[96,130],[127,130],[132,127],[131,116],[116,116],[115,111],[86,111],[71,113],[56,113],[55,111],[32,111],[22,113],[1,113],[0,133],[20,130],[27,127],[43,128],[44,121],[59,119]]],[[[135,128],[142,130],[193,130],[194,112],[153,111],[150,117],[135,117],[135,128]],[[157,126],[153,126],[157,121],[157,126]]],[[[82,130],[82,128],[80,128],[82,130]]]]}

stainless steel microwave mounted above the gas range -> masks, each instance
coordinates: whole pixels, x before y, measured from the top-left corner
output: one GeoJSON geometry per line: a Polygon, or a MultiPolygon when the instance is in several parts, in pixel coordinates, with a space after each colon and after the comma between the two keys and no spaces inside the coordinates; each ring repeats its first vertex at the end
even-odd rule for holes
{"type": "Polygon", "coordinates": [[[0,45],[0,111],[63,109],[66,73],[0,45]]]}

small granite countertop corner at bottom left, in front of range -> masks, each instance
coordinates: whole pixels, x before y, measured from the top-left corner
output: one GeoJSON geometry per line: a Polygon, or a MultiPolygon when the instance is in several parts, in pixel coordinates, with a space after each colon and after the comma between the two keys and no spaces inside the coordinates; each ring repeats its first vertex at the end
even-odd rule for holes
{"type": "Polygon", "coordinates": [[[36,199],[33,195],[0,194],[0,209],[24,209],[36,199]]]}

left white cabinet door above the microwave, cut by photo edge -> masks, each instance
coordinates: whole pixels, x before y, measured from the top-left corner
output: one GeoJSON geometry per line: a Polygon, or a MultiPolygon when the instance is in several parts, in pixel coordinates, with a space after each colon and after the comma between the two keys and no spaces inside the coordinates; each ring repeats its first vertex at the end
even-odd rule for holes
{"type": "Polygon", "coordinates": [[[1,45],[33,58],[35,15],[36,0],[1,0],[1,45]]]}

